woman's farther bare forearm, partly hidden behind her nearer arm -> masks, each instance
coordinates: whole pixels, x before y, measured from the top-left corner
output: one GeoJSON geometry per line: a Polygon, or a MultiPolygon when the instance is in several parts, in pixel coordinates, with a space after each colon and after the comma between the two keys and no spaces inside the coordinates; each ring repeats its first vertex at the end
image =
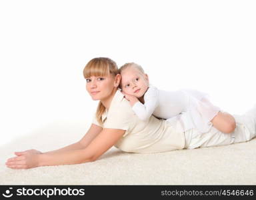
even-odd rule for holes
{"type": "Polygon", "coordinates": [[[92,123],[91,127],[89,128],[89,130],[81,140],[71,145],[68,145],[67,147],[63,147],[61,149],[57,149],[54,151],[47,151],[45,152],[45,154],[55,154],[55,153],[65,152],[70,150],[85,149],[85,147],[87,147],[89,143],[91,143],[91,141],[93,141],[93,139],[97,137],[99,133],[101,133],[101,131],[102,131],[102,127],[92,123]]]}

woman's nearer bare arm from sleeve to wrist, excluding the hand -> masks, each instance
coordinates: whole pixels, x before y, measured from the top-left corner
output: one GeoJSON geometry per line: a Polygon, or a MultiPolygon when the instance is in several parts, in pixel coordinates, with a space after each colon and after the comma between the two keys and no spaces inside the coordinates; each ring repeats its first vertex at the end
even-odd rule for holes
{"type": "Polygon", "coordinates": [[[38,166],[71,165],[97,160],[123,136],[125,130],[103,129],[85,149],[39,154],[38,166]]]}

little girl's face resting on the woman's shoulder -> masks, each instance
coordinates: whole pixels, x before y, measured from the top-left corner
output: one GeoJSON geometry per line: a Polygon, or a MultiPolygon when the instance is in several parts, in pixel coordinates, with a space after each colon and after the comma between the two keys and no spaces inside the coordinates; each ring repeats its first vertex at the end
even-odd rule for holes
{"type": "Polygon", "coordinates": [[[149,87],[149,79],[146,74],[141,73],[133,67],[121,72],[121,89],[128,95],[140,98],[149,87]]]}

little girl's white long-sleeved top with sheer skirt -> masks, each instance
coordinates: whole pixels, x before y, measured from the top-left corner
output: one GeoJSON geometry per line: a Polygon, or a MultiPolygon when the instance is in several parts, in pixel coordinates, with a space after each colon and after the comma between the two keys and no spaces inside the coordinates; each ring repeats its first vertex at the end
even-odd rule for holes
{"type": "Polygon", "coordinates": [[[144,102],[138,101],[132,107],[139,119],[145,121],[154,115],[171,123],[179,117],[184,131],[197,128],[201,133],[209,131],[211,119],[220,110],[209,101],[206,93],[192,89],[163,91],[150,85],[144,94],[144,102]],[[179,115],[181,113],[183,115],[179,115]]]}

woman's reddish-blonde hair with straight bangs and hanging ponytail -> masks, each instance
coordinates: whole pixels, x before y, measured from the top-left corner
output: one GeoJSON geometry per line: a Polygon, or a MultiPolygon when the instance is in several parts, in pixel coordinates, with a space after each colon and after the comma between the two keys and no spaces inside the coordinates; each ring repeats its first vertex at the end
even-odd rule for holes
{"type": "MultiPolygon", "coordinates": [[[[85,79],[91,76],[103,77],[109,74],[112,74],[113,77],[115,77],[115,75],[118,73],[119,70],[115,61],[107,57],[97,57],[91,59],[91,61],[89,61],[83,69],[83,76],[85,79]]],[[[105,106],[101,103],[101,101],[99,101],[99,105],[96,111],[96,119],[100,125],[103,124],[101,116],[105,112],[105,109],[105,106]]]]}

